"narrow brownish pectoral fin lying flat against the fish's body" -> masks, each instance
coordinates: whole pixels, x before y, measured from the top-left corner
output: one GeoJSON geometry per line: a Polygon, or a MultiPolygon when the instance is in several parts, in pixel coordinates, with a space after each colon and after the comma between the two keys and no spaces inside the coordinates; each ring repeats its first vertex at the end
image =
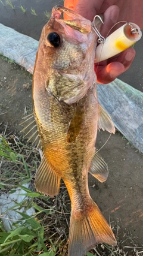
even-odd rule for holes
{"type": "Polygon", "coordinates": [[[84,107],[77,104],[73,118],[70,121],[69,128],[67,130],[67,142],[73,142],[76,140],[82,127],[83,117],[85,114],[84,107]]]}

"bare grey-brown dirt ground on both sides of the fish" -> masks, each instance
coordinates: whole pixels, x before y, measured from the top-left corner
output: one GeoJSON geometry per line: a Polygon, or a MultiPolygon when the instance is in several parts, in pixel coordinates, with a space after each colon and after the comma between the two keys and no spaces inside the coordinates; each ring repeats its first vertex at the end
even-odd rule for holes
{"type": "MultiPolygon", "coordinates": [[[[20,136],[18,124],[32,112],[32,75],[0,56],[0,90],[0,132],[20,136]]],[[[108,136],[108,132],[98,133],[97,149],[108,136]]],[[[119,223],[121,239],[127,228],[143,245],[142,155],[118,131],[100,153],[110,174],[105,183],[89,175],[91,196],[108,221],[119,223]]]]}

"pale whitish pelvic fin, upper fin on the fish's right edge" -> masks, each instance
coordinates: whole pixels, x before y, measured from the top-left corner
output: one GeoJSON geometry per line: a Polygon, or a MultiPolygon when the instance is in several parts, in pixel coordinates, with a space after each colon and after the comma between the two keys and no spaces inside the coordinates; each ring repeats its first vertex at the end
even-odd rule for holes
{"type": "Polygon", "coordinates": [[[110,115],[98,105],[98,127],[101,128],[103,131],[108,131],[110,133],[115,133],[115,127],[113,122],[111,121],[110,115]]]}

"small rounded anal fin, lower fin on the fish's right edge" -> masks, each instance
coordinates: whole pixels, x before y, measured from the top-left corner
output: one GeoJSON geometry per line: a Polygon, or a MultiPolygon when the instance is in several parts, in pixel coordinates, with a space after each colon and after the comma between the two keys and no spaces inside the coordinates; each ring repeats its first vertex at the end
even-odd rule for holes
{"type": "Polygon", "coordinates": [[[95,178],[100,180],[100,182],[104,182],[108,177],[108,166],[102,159],[102,157],[95,153],[94,158],[91,162],[91,169],[89,170],[95,178]]]}

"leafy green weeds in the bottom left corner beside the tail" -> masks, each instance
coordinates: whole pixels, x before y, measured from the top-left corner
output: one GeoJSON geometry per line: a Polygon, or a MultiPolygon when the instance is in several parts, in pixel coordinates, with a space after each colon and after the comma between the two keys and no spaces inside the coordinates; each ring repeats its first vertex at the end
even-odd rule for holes
{"type": "Polygon", "coordinates": [[[42,225],[25,213],[18,213],[21,215],[20,226],[15,224],[15,228],[12,228],[9,232],[0,233],[0,255],[35,255],[36,252],[39,255],[43,252],[48,253],[49,248],[45,246],[42,225]]]}

